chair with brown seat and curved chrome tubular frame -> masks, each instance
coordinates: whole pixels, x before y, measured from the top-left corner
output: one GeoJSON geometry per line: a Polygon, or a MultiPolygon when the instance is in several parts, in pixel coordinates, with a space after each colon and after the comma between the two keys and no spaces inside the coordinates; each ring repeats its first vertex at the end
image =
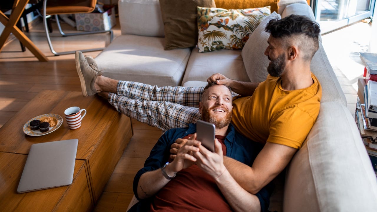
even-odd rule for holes
{"type": "Polygon", "coordinates": [[[51,38],[48,30],[48,23],[47,18],[51,17],[51,15],[55,15],[56,23],[58,25],[58,29],[63,37],[70,36],[70,35],[87,35],[87,34],[97,34],[97,33],[110,33],[110,42],[113,39],[113,32],[111,30],[103,30],[103,31],[90,31],[90,32],[74,32],[74,33],[64,33],[61,30],[61,26],[59,23],[59,14],[76,14],[76,13],[89,13],[95,9],[95,5],[97,0],[44,0],[43,1],[43,25],[44,31],[46,32],[46,37],[48,41],[48,45],[50,47],[51,52],[54,55],[63,55],[63,54],[73,54],[76,51],[81,52],[91,52],[91,51],[100,51],[103,48],[94,48],[94,49],[81,49],[81,50],[74,50],[74,51],[66,51],[66,52],[56,52],[52,47],[51,38]]]}

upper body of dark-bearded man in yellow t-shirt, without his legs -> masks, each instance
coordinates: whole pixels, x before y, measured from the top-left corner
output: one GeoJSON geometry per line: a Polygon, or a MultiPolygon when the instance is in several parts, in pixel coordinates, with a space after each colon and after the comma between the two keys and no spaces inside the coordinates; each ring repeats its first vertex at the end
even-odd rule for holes
{"type": "Polygon", "coordinates": [[[252,167],[224,159],[236,181],[253,194],[273,180],[302,146],[316,121],[322,96],[320,83],[310,71],[318,50],[319,26],[290,15],[271,20],[265,31],[270,37],[264,54],[271,62],[264,82],[241,82],[221,74],[208,78],[244,96],[233,101],[232,123],[248,138],[265,143],[252,167]]]}

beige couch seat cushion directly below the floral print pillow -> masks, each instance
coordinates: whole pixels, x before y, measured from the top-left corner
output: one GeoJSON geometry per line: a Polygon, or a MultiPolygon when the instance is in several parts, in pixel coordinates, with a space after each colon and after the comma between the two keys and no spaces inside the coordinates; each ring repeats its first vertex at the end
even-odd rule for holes
{"type": "Polygon", "coordinates": [[[202,86],[212,74],[221,73],[234,80],[250,81],[241,58],[241,50],[199,53],[192,50],[182,86],[202,86]],[[196,81],[196,82],[195,82],[196,81]]]}

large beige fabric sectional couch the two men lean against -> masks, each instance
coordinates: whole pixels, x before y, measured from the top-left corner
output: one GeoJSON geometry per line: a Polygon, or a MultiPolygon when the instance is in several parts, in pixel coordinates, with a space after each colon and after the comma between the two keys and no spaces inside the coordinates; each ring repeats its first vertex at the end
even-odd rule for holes
{"type": "MultiPolygon", "coordinates": [[[[301,14],[314,20],[304,0],[281,0],[278,13],[274,15],[301,14]]],[[[106,76],[187,87],[206,84],[216,72],[243,81],[262,81],[267,75],[263,52],[268,34],[262,24],[242,50],[199,53],[197,48],[164,51],[158,0],[120,0],[119,19],[122,35],[95,58],[106,76]]],[[[377,180],[371,161],[321,42],[311,70],[323,88],[320,113],[283,179],[275,180],[269,209],[376,211],[377,180]]]]}

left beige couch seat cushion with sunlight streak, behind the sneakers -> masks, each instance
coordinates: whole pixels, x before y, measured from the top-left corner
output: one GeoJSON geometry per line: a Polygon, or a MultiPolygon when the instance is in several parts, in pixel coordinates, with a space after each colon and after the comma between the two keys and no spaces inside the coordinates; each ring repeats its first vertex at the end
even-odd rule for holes
{"type": "Polygon", "coordinates": [[[104,76],[158,86],[181,84],[190,49],[164,50],[164,38],[120,35],[96,58],[104,76]]]}

